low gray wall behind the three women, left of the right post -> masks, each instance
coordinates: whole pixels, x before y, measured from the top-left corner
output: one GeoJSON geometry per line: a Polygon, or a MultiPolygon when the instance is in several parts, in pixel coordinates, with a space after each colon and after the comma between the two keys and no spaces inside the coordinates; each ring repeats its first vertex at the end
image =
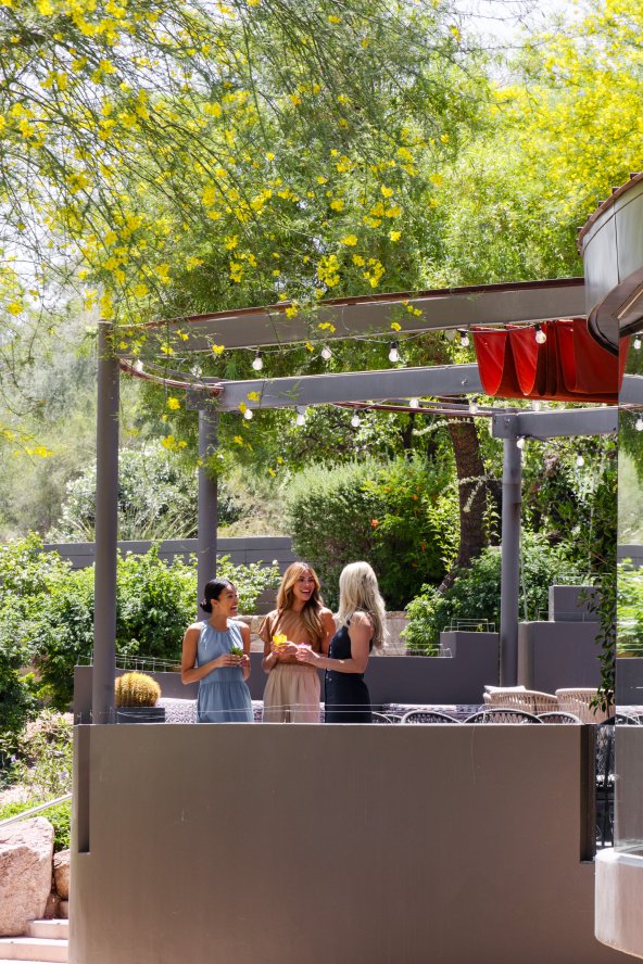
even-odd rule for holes
{"type": "MultiPolygon", "coordinates": [[[[443,633],[452,658],[426,656],[373,657],[366,682],[374,706],[384,702],[481,703],[484,686],[499,682],[499,642],[495,633],[443,633]]],[[[251,654],[249,686],[253,699],[262,699],[266,674],[262,655],[251,654]]],[[[198,684],[185,686],[178,673],[150,673],[162,695],[196,699],[198,684]]],[[[322,677],[323,678],[323,677],[322,677]]],[[[74,715],[90,722],[91,667],[74,671],[74,715]]]]}

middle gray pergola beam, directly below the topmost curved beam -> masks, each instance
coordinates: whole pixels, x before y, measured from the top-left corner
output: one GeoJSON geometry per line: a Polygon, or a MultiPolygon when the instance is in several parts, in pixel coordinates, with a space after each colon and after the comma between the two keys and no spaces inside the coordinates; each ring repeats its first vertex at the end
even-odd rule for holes
{"type": "MultiPolygon", "coordinates": [[[[219,411],[235,411],[241,403],[248,408],[283,408],[482,391],[477,365],[391,368],[342,375],[306,375],[301,378],[256,378],[220,384],[224,385],[223,394],[215,399],[219,411]],[[250,394],[259,394],[259,401],[249,398],[250,394]]],[[[191,404],[197,407],[199,393],[192,392],[191,395],[191,404]]]]}

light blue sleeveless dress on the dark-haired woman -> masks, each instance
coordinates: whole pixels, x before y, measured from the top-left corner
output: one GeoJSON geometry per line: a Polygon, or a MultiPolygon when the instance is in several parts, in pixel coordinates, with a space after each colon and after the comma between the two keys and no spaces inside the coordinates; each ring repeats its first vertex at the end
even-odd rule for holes
{"type": "MultiPolygon", "coordinates": [[[[197,646],[197,665],[203,667],[232,646],[243,648],[241,630],[231,622],[227,630],[215,630],[203,621],[197,646]]],[[[199,681],[197,700],[199,723],[252,723],[252,700],[241,667],[219,667],[199,681]]]]}

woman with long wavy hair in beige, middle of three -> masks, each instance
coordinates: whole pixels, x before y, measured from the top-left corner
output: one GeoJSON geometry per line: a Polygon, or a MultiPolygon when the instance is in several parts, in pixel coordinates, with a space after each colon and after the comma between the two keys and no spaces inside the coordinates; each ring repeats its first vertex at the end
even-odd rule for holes
{"type": "Polygon", "coordinates": [[[307,562],[293,562],[283,573],[277,608],[260,629],[264,642],[265,723],[318,723],[322,686],[314,667],[298,662],[299,647],[326,655],[335,633],[324,606],[317,573],[307,562]]]}

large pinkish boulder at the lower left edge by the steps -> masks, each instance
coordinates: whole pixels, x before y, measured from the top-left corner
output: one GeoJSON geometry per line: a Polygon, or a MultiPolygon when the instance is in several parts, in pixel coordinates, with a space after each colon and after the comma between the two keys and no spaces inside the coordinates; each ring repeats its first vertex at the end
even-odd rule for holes
{"type": "Polygon", "coordinates": [[[24,934],[51,891],[53,827],[43,816],[0,827],[0,935],[24,934]]]}

